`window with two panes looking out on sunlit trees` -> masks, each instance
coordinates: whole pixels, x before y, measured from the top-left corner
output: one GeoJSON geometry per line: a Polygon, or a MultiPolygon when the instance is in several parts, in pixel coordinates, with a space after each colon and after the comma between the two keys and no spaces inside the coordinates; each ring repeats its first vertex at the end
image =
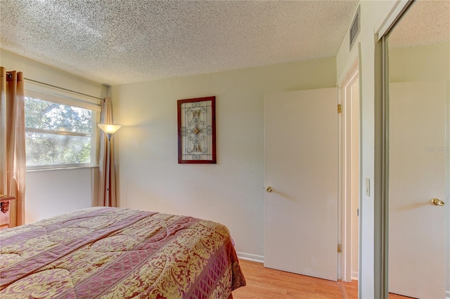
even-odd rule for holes
{"type": "Polygon", "coordinates": [[[33,91],[25,94],[27,169],[96,164],[93,128],[96,128],[98,105],[89,109],[83,101],[33,91]]]}

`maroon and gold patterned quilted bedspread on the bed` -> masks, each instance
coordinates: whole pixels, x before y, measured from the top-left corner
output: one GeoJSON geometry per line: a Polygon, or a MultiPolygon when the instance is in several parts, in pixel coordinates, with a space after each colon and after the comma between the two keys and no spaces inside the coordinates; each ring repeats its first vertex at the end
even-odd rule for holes
{"type": "Polygon", "coordinates": [[[0,298],[232,298],[229,231],[198,218],[86,208],[0,232],[0,298]]]}

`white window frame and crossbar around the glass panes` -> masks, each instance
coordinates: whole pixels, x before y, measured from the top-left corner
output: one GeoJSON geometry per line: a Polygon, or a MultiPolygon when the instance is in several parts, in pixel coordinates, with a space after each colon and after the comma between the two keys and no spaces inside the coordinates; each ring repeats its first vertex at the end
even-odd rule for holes
{"type": "MultiPolygon", "coordinates": [[[[83,109],[89,109],[92,111],[91,119],[91,163],[79,163],[79,164],[49,164],[49,165],[33,165],[27,166],[27,171],[33,170],[48,170],[48,169],[61,169],[61,168],[82,168],[92,167],[98,165],[98,135],[97,135],[97,123],[100,119],[101,105],[100,99],[90,97],[88,95],[82,95],[76,92],[68,91],[62,88],[56,88],[48,86],[46,84],[39,84],[35,81],[27,81],[25,84],[25,97],[34,98],[39,100],[46,100],[48,102],[56,102],[58,104],[79,107],[83,109]]],[[[52,133],[49,130],[41,130],[39,128],[25,128],[26,132],[36,133],[52,133]]],[[[60,135],[77,135],[86,136],[86,133],[73,133],[73,132],[54,132],[60,135]]]]}

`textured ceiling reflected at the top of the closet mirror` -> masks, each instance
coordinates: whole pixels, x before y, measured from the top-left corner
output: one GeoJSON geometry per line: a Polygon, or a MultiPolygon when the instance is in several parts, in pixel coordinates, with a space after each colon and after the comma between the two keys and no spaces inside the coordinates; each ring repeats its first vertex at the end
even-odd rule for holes
{"type": "Polygon", "coordinates": [[[450,42],[449,0],[415,1],[389,36],[390,48],[448,42],[450,42]]]}

